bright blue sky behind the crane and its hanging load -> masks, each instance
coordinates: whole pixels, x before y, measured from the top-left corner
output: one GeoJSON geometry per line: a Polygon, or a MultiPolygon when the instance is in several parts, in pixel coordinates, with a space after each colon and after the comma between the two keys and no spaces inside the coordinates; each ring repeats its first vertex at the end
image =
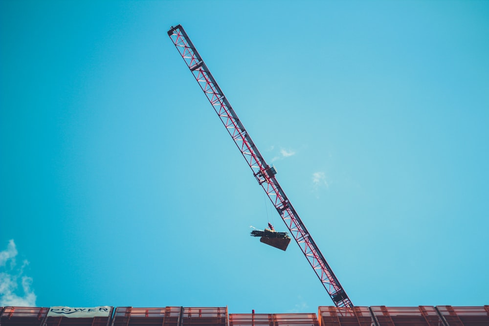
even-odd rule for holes
{"type": "Polygon", "coordinates": [[[488,1],[0,1],[2,304],[332,305],[182,24],[356,305],[489,302],[488,1]],[[12,241],[11,241],[12,240],[12,241]]]}

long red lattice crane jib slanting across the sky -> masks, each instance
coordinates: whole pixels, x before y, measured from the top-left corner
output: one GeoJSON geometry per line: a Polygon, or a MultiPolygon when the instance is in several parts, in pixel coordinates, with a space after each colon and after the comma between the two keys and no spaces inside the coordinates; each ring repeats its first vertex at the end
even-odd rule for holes
{"type": "Polygon", "coordinates": [[[284,220],[290,234],[311,264],[333,303],[337,307],[353,307],[350,298],[334,275],[330,265],[319,251],[289,198],[280,187],[275,178],[275,168],[265,162],[183,27],[181,25],[172,26],[168,31],[168,36],[234,140],[246,163],[248,163],[258,184],[265,190],[273,206],[284,220]]]}

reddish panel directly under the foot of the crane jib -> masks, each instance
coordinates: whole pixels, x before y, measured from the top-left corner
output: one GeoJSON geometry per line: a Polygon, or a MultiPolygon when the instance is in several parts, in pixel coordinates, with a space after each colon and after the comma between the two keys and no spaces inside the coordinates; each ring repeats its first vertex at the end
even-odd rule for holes
{"type": "Polygon", "coordinates": [[[335,307],[318,308],[319,326],[372,326],[374,320],[368,307],[335,307]]]}

